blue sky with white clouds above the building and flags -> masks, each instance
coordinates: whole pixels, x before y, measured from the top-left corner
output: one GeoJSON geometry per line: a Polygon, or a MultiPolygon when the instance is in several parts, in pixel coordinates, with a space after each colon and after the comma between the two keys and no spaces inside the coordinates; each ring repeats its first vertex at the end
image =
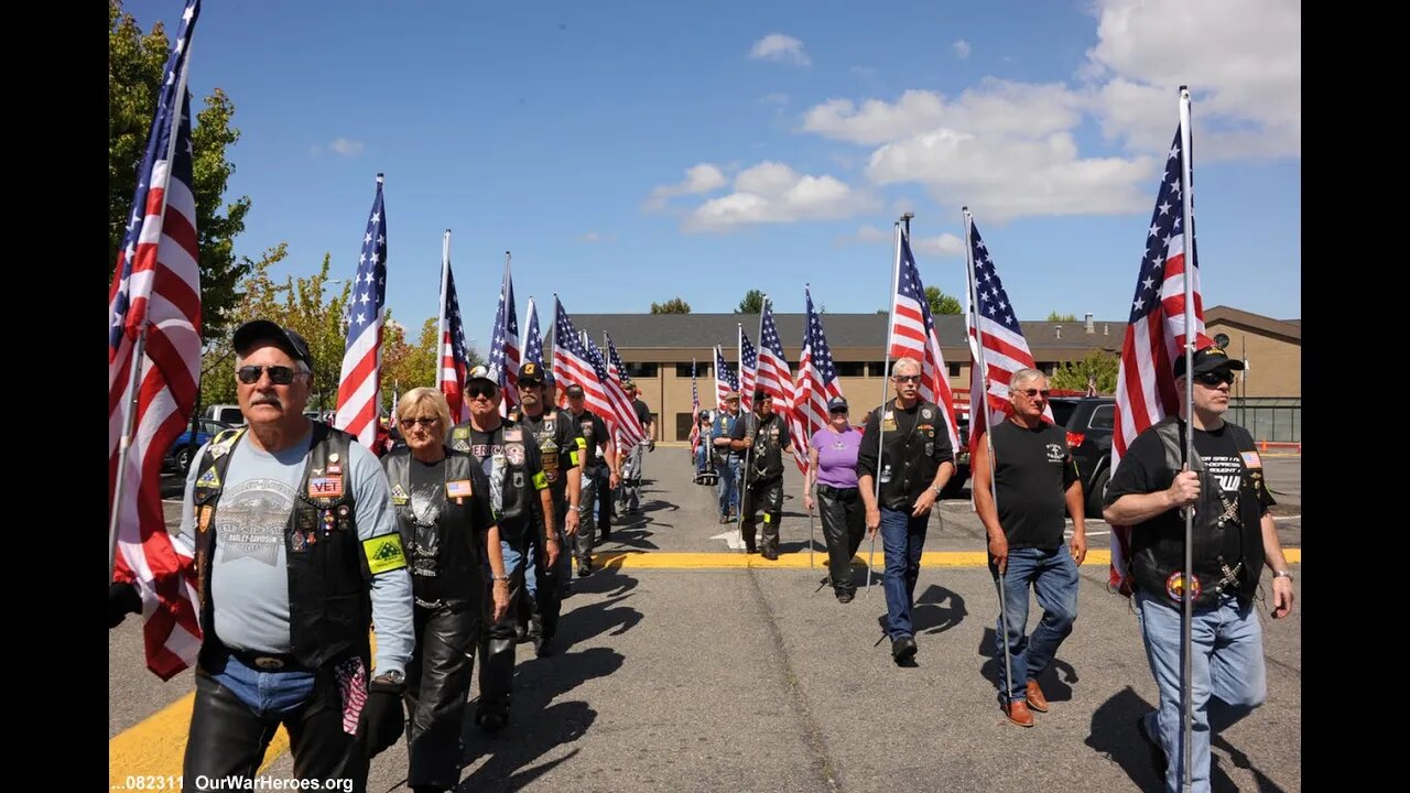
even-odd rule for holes
{"type": "Polygon", "coordinates": [[[798,312],[805,282],[873,312],[905,210],[926,285],[962,295],[962,205],[1021,319],[1125,319],[1186,83],[1204,302],[1293,319],[1300,38],[1286,0],[207,0],[190,85],[235,104],[237,254],[351,278],[385,172],[388,306],[436,315],[451,229],[484,349],[506,250],[520,319],[554,291],[798,312]]]}

